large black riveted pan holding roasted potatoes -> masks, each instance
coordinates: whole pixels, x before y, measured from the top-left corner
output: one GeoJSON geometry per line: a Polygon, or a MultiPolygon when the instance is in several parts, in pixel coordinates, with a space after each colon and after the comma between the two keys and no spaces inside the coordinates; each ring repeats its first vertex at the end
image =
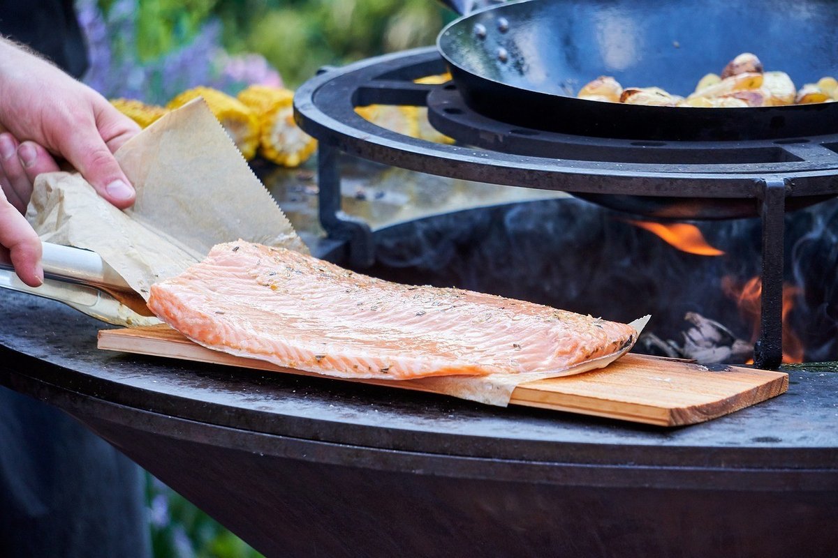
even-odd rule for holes
{"type": "Polygon", "coordinates": [[[739,141],[838,132],[838,103],[697,109],[575,95],[600,75],[687,95],[742,52],[800,87],[838,77],[836,28],[833,0],[530,0],[459,18],[437,46],[468,106],[497,120],[584,136],[739,141]]]}

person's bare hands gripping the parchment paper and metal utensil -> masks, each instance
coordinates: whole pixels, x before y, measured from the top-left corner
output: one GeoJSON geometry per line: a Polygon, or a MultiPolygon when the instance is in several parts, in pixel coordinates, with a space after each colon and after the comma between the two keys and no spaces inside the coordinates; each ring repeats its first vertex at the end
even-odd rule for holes
{"type": "Polygon", "coordinates": [[[128,207],[134,191],[113,152],[139,126],[96,91],[0,38],[0,131],[0,245],[20,279],[38,286],[41,244],[23,218],[34,178],[58,170],[60,157],[106,200],[128,207]]]}

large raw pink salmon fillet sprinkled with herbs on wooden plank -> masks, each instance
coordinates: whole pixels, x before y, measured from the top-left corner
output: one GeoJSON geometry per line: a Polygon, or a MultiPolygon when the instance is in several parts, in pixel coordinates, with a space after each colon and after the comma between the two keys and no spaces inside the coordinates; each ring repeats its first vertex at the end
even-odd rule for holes
{"type": "Polygon", "coordinates": [[[241,240],[154,284],[148,307],[210,349],[349,378],[561,371],[621,351],[637,335],[630,325],[391,283],[241,240]]]}

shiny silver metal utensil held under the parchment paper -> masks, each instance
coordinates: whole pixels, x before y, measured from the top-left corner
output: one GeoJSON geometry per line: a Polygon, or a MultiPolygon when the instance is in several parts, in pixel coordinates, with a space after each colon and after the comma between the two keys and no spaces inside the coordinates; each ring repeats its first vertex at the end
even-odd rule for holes
{"type": "Polygon", "coordinates": [[[18,279],[8,258],[0,256],[0,287],[58,300],[109,324],[137,327],[161,323],[99,254],[44,243],[41,261],[44,284],[30,287],[18,279]]]}

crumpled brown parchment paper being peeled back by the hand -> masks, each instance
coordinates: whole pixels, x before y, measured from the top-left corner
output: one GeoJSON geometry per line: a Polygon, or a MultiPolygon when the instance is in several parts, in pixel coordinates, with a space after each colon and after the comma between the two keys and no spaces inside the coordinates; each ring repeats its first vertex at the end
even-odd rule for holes
{"type": "Polygon", "coordinates": [[[308,252],[204,100],[127,141],[116,159],[137,189],[124,212],[78,173],[35,181],[27,218],[45,242],[93,250],[144,299],[216,243],[251,242],[308,252]]]}

